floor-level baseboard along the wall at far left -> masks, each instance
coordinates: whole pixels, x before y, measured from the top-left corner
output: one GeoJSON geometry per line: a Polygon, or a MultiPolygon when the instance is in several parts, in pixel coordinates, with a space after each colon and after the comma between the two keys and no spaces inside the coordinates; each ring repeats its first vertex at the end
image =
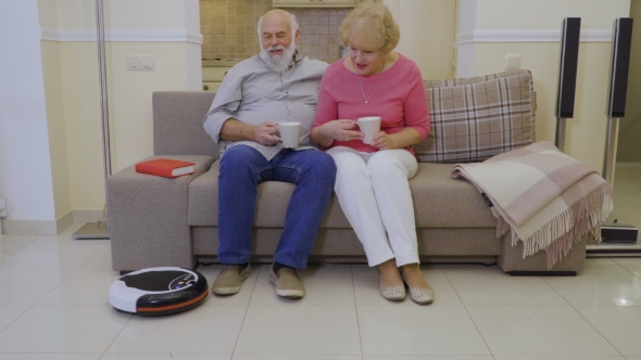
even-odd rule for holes
{"type": "Polygon", "coordinates": [[[58,235],[74,223],[105,221],[102,210],[70,210],[56,220],[1,219],[2,233],[12,235],[58,235]]]}

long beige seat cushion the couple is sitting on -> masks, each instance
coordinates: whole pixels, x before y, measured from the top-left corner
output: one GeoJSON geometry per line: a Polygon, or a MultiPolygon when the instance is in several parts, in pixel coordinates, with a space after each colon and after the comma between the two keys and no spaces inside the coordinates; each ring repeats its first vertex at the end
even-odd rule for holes
{"type": "MultiPolygon", "coordinates": [[[[410,180],[417,228],[495,228],[497,219],[478,190],[466,180],[450,177],[451,164],[418,164],[410,180]]],[[[189,185],[188,220],[192,227],[218,224],[218,171],[216,160],[210,171],[189,185]]],[[[257,187],[254,227],[281,228],[294,185],[266,181],[257,187]]],[[[332,195],[323,228],[350,229],[340,204],[332,195]]]]}

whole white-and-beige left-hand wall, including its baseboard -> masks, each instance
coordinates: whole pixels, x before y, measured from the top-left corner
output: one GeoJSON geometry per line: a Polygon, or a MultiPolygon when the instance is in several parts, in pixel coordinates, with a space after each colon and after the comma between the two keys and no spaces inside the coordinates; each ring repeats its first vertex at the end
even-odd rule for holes
{"type": "MultiPolygon", "coordinates": [[[[198,0],[105,0],[114,171],[152,153],[151,93],[200,90],[198,0]],[[127,72],[127,54],[155,55],[127,72]]],[[[0,2],[4,231],[56,233],[104,205],[95,3],[0,2]],[[7,224],[10,224],[9,227],[7,224]]]]}

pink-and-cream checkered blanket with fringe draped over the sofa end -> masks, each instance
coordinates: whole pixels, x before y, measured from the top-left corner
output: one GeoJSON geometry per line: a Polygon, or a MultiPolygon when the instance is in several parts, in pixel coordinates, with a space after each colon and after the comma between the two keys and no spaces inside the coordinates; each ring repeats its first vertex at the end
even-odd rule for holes
{"type": "Polygon", "coordinates": [[[452,177],[464,178],[481,192],[499,220],[498,236],[508,230],[512,245],[524,242],[524,258],[541,249],[552,268],[573,242],[591,233],[614,207],[614,193],[599,173],[541,141],[482,163],[456,164],[452,177]]]}

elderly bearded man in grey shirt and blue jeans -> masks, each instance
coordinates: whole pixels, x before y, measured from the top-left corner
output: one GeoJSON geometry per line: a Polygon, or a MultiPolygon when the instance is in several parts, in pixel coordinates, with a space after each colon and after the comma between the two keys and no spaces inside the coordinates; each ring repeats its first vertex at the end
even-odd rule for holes
{"type": "Polygon", "coordinates": [[[204,119],[205,131],[221,144],[218,177],[218,261],[225,263],[213,293],[231,295],[249,274],[256,185],[296,184],[285,228],[271,268],[276,294],[304,296],[296,269],[304,269],[329,203],[336,166],[316,150],[310,130],[318,86],[327,64],[303,59],[296,49],[296,17],[273,10],[259,21],[261,53],[234,66],[204,119]],[[301,123],[300,146],[286,149],[275,137],[282,121],[301,123]]]}

